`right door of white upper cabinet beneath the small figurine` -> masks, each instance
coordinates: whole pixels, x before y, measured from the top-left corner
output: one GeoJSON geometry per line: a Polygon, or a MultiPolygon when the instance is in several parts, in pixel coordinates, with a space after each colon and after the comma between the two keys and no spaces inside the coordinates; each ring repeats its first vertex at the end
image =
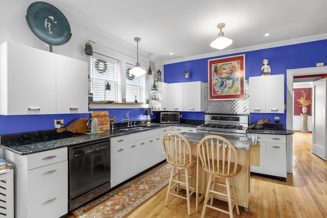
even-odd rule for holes
{"type": "Polygon", "coordinates": [[[265,76],[266,113],[284,113],[284,75],[265,76]]]}

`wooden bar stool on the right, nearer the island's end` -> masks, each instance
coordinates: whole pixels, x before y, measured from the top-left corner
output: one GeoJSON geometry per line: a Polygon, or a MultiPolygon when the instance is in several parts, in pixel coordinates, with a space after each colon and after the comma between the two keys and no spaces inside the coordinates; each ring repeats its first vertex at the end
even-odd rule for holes
{"type": "Polygon", "coordinates": [[[202,168],[209,173],[201,217],[204,217],[207,207],[227,213],[232,218],[233,207],[236,206],[236,212],[240,215],[232,178],[238,175],[242,166],[238,165],[238,155],[233,144],[224,137],[208,135],[199,142],[198,155],[202,168]],[[225,190],[222,187],[225,187],[225,190]],[[213,206],[214,197],[228,202],[228,211],[213,206]]]}

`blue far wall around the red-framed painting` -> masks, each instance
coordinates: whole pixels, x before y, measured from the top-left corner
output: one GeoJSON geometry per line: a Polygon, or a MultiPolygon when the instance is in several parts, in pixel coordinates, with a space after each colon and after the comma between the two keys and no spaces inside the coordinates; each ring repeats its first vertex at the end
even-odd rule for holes
{"type": "MultiPolygon", "coordinates": [[[[263,59],[269,60],[271,75],[284,74],[285,76],[285,103],[286,103],[286,83],[287,69],[315,67],[316,63],[327,63],[327,40],[315,42],[300,43],[263,49],[251,52],[236,53],[225,56],[216,56],[198,60],[184,61],[179,63],[167,64],[164,66],[166,83],[185,82],[184,71],[186,67],[190,71],[188,82],[202,81],[208,82],[208,60],[245,54],[245,79],[249,77],[261,76],[261,67],[263,59]]],[[[273,91],[273,90],[271,90],[273,91]]],[[[192,112],[190,112],[192,113],[192,112]]],[[[192,116],[191,114],[188,116],[192,116]]],[[[269,123],[274,123],[274,116],[279,116],[281,124],[286,127],[286,111],[284,114],[263,114],[250,113],[250,122],[256,122],[262,117],[269,118],[269,123]]],[[[194,119],[200,119],[201,114],[195,113],[194,119]]]]}

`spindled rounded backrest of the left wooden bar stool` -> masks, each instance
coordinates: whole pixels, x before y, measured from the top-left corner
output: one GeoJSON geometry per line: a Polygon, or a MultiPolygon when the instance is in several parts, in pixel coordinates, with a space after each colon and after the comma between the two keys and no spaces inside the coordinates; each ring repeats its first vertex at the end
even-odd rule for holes
{"type": "Polygon", "coordinates": [[[167,162],[175,166],[189,166],[192,163],[190,142],[180,133],[169,131],[162,136],[167,162]]]}

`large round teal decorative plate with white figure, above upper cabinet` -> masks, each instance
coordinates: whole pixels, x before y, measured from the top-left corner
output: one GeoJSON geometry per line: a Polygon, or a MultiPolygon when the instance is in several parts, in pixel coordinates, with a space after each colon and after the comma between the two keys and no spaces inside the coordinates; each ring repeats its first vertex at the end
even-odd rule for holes
{"type": "Polygon", "coordinates": [[[26,13],[31,31],[50,45],[65,44],[72,37],[71,26],[65,15],[55,6],[45,2],[32,3],[26,13]]]}

